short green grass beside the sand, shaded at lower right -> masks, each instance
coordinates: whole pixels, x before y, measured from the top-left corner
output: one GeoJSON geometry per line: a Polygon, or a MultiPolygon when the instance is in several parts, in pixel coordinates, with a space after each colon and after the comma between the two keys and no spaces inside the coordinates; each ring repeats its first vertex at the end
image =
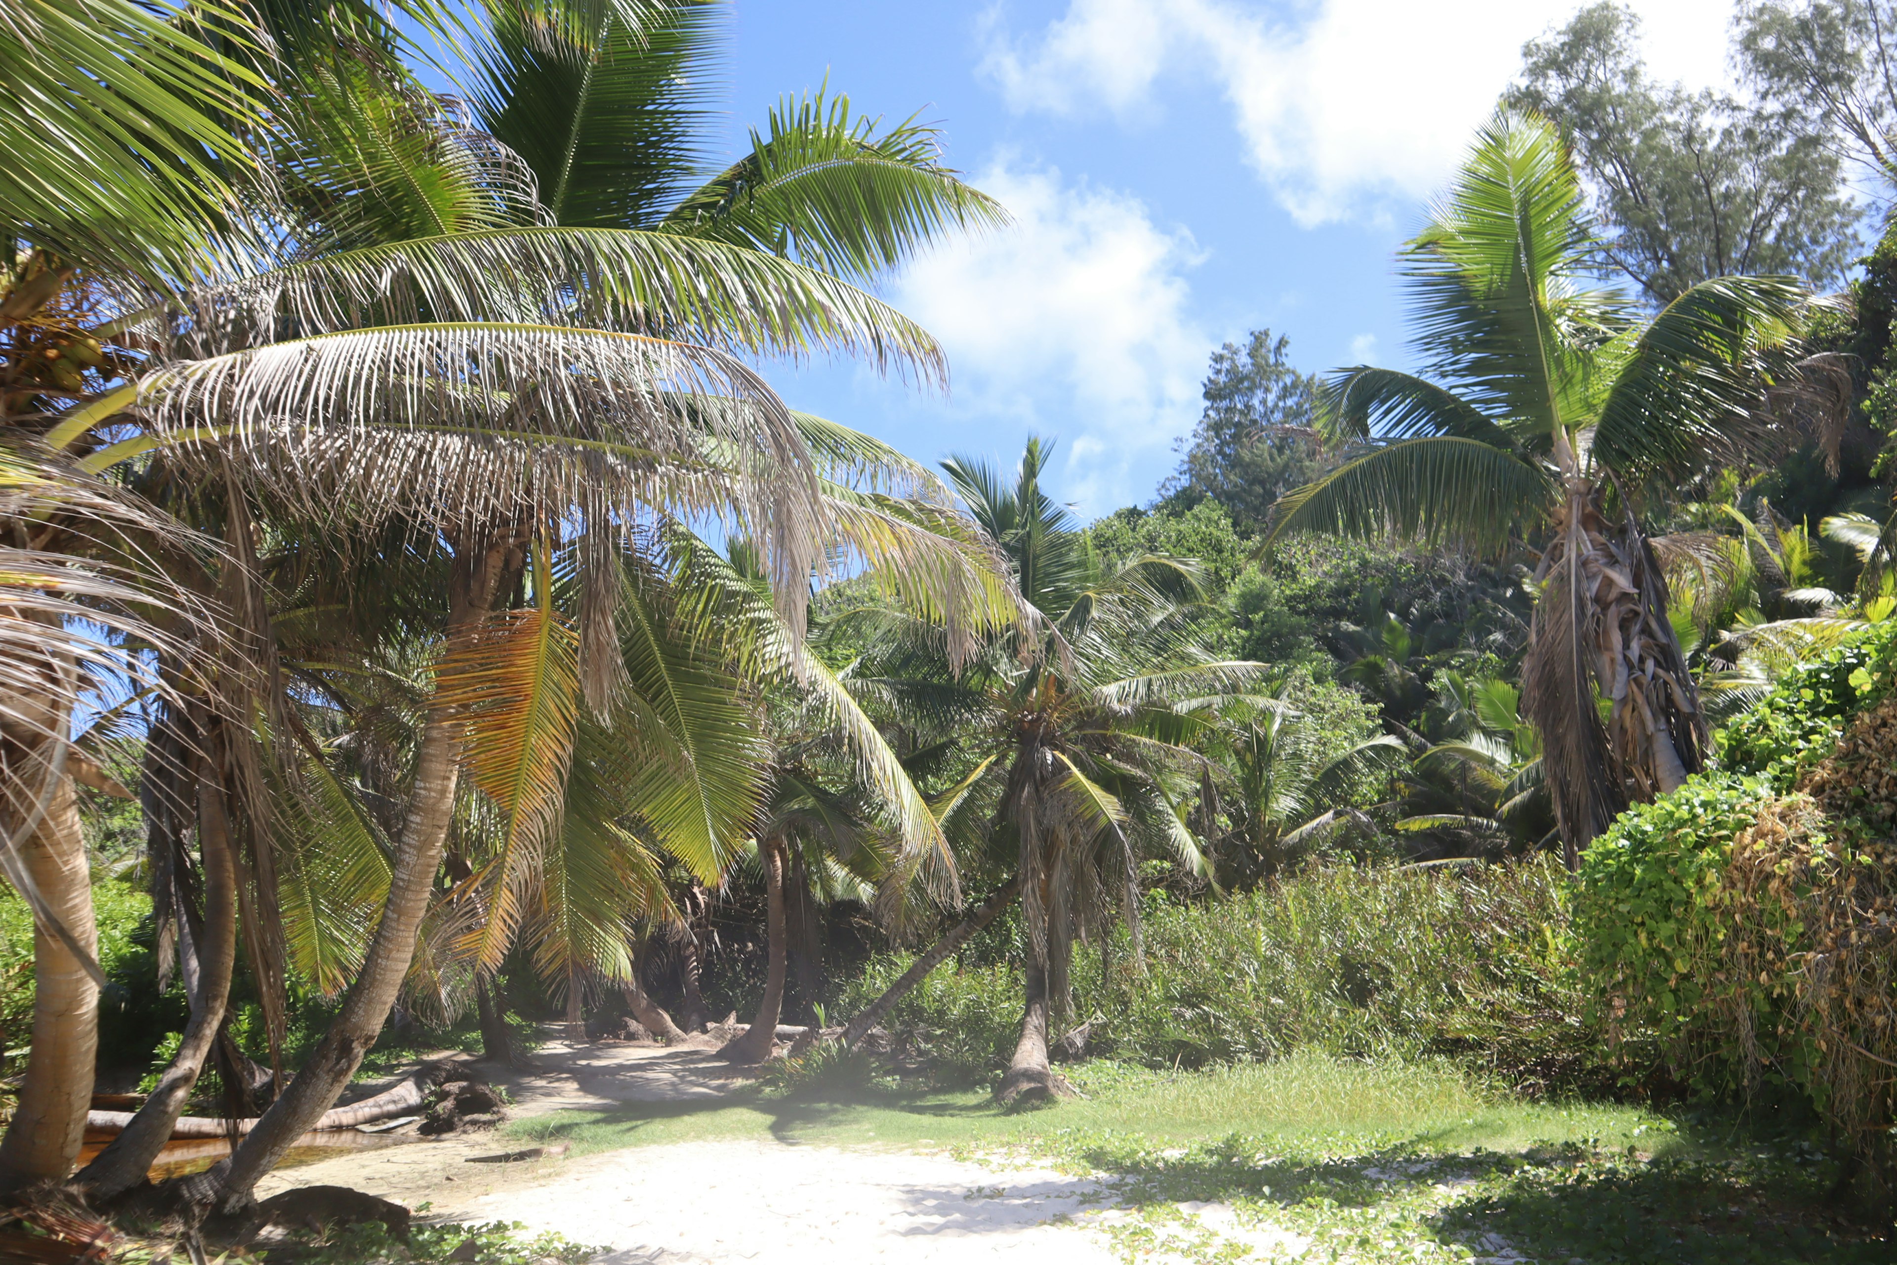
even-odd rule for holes
{"type": "Polygon", "coordinates": [[[1110,1174],[1098,1225],[1129,1263],[1244,1259],[1201,1221],[1296,1235],[1301,1261],[1516,1259],[1823,1265],[1897,1259],[1825,1204],[1827,1153],[1802,1125],[1626,1104],[1529,1102],[1451,1062],[1271,1064],[1167,1073],[1095,1062],[1087,1098],[1005,1113],[981,1091],[761,1087],[518,1121],[506,1136],[573,1153],[708,1140],[948,1149],[1110,1174]]]}

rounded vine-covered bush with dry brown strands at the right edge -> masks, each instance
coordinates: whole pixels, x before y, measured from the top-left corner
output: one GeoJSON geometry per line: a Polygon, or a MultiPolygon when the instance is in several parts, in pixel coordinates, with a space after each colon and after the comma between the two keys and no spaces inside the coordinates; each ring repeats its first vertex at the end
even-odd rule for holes
{"type": "Polygon", "coordinates": [[[1588,850],[1575,910],[1622,1053],[1707,1094],[1806,1094],[1867,1161],[1872,1202],[1897,1193],[1891,645],[1876,628],[1741,717],[1722,751],[1757,776],[1692,778],[1622,814],[1588,850]]]}

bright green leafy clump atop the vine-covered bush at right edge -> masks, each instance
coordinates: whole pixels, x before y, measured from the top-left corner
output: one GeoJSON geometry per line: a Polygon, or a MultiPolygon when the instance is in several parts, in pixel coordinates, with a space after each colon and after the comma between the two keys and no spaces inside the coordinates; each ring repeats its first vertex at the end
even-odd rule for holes
{"type": "Polygon", "coordinates": [[[1719,768],[1791,789],[1831,755],[1853,715],[1889,692],[1893,658],[1897,620],[1884,620],[1796,664],[1759,706],[1713,734],[1719,768]]]}

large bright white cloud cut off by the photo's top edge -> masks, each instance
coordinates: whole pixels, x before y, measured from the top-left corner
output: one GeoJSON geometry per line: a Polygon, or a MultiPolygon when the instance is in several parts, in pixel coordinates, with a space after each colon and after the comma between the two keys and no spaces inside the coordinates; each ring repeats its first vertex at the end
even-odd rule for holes
{"type": "MultiPolygon", "coordinates": [[[[1017,110],[1123,116],[1165,76],[1214,83],[1246,156],[1303,224],[1434,192],[1519,68],[1580,0],[1070,0],[1026,40],[986,21],[988,76],[1017,110]]],[[[1724,74],[1732,0],[1635,0],[1648,66],[1724,74]]]]}

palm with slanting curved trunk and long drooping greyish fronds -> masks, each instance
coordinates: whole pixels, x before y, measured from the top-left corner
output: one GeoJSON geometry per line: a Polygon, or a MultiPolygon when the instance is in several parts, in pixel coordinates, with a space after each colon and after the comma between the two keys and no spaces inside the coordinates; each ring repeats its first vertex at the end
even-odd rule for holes
{"type": "MultiPolygon", "coordinates": [[[[820,112],[806,121],[835,152],[670,216],[704,13],[486,6],[472,46],[489,133],[359,30],[345,55],[317,47],[256,133],[283,174],[267,231],[211,283],[120,298],[89,338],[135,332],[140,355],[120,374],[133,381],[47,417],[46,442],[87,470],[211,467],[302,531],[408,522],[448,542],[446,611],[423,641],[446,649],[436,677],[467,692],[434,690],[421,709],[376,937],[315,1058],[233,1157],[231,1201],[328,1106],[395,999],[453,819],[463,728],[505,688],[497,647],[524,645],[512,633],[533,624],[489,614],[535,541],[575,514],[601,539],[653,512],[723,516],[759,541],[795,632],[802,577],[833,527],[865,514],[825,499],[797,421],[730,351],[857,351],[941,372],[922,330],[785,258],[871,271],[943,228],[994,222],[935,163],[928,129],[899,129],[890,150],[846,104],[842,138],[837,110],[820,112]],[[556,133],[563,148],[546,150],[556,133]],[[776,252],[757,248],[764,207],[799,216],[776,252]]],[[[783,140],[761,138],[751,167],[783,140]]],[[[522,819],[546,812],[535,791],[522,819]]]]}

